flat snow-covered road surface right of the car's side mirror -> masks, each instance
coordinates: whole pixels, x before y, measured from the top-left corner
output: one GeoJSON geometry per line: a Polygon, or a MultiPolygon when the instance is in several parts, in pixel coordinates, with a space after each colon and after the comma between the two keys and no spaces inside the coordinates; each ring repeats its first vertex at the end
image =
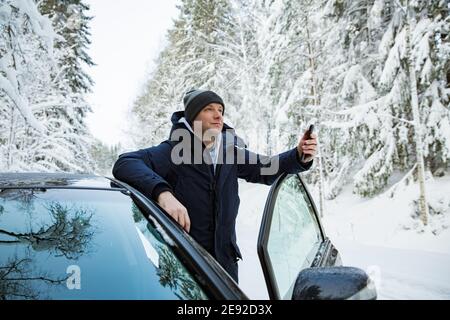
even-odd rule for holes
{"type": "Polygon", "coordinates": [[[378,299],[450,299],[450,255],[333,240],[345,265],[371,276],[378,299]]]}

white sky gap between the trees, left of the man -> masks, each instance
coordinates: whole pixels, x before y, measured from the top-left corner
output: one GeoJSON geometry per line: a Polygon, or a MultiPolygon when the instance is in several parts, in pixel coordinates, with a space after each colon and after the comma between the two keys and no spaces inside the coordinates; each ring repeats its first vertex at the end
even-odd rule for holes
{"type": "Polygon", "coordinates": [[[177,0],[87,0],[89,54],[97,66],[88,96],[92,134],[108,145],[126,141],[127,111],[140,93],[153,61],[166,43],[166,31],[178,16],[177,0]]]}

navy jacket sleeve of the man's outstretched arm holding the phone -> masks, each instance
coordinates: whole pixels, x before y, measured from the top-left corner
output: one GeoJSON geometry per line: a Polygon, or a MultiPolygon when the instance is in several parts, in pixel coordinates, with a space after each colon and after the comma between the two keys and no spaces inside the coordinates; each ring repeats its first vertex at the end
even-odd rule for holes
{"type": "Polygon", "coordinates": [[[271,185],[283,173],[298,173],[311,168],[313,161],[300,162],[297,148],[273,157],[253,153],[246,148],[237,148],[238,177],[248,182],[271,185]]]}

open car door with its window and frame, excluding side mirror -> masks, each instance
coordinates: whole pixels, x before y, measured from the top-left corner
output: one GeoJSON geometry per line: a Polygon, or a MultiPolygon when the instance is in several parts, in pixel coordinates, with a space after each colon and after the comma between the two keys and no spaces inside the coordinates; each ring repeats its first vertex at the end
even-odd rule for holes
{"type": "Polygon", "coordinates": [[[341,265],[314,202],[298,174],[272,185],[258,237],[258,256],[270,299],[291,299],[299,272],[341,265]]]}

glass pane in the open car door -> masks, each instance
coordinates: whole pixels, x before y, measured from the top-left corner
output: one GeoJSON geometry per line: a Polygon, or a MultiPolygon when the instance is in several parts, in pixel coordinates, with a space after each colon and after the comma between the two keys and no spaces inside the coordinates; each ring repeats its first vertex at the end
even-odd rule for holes
{"type": "Polygon", "coordinates": [[[281,298],[291,297],[298,273],[311,265],[322,241],[313,205],[302,182],[297,175],[286,178],[275,199],[267,242],[281,298]]]}

